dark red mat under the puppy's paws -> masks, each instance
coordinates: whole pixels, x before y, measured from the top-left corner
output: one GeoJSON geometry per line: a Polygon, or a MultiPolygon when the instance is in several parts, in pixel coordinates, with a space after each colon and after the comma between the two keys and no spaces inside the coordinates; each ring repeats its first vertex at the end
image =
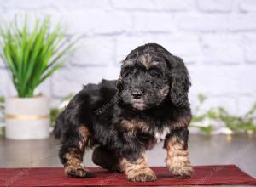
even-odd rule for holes
{"type": "Polygon", "coordinates": [[[2,168],[0,186],[92,186],[92,185],[171,185],[171,184],[256,184],[256,179],[242,172],[235,165],[194,167],[192,178],[172,177],[166,167],[152,167],[157,181],[132,183],[122,173],[108,173],[98,167],[89,167],[94,178],[67,178],[60,167],[2,168]]]}

